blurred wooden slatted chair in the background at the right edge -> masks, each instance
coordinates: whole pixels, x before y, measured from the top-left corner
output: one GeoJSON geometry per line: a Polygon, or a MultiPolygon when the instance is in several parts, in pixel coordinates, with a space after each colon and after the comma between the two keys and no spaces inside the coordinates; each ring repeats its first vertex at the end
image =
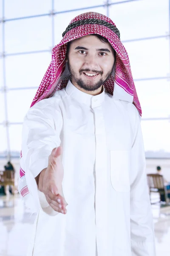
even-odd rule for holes
{"type": "Polygon", "coordinates": [[[151,192],[157,192],[160,195],[160,202],[162,201],[161,198],[164,198],[166,204],[169,204],[170,200],[168,198],[167,187],[164,185],[164,177],[160,174],[147,174],[147,183],[149,186],[150,194],[151,192]]]}

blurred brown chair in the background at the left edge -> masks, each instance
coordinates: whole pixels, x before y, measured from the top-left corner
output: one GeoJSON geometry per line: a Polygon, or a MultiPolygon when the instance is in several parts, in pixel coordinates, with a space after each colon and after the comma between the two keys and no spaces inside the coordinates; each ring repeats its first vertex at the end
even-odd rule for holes
{"type": "Polygon", "coordinates": [[[6,170],[0,175],[0,186],[4,186],[6,194],[8,194],[8,187],[11,186],[11,192],[14,195],[14,171],[6,170]]]}

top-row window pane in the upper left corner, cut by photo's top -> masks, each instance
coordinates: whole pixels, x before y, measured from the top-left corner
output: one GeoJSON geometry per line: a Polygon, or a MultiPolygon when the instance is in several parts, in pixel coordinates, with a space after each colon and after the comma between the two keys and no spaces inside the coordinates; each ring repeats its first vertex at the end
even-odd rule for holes
{"type": "Polygon", "coordinates": [[[5,17],[16,18],[38,14],[45,14],[51,10],[49,0],[6,0],[5,17]]]}

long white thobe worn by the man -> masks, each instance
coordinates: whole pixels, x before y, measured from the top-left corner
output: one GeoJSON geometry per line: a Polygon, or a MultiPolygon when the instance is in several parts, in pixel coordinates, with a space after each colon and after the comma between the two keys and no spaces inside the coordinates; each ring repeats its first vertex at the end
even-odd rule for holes
{"type": "MultiPolygon", "coordinates": [[[[104,89],[104,88],[103,88],[104,89]]],[[[136,107],[71,83],[29,109],[22,161],[39,211],[27,256],[155,256],[153,216],[136,107]],[[34,177],[63,147],[67,214],[55,212],[34,177]]]]}

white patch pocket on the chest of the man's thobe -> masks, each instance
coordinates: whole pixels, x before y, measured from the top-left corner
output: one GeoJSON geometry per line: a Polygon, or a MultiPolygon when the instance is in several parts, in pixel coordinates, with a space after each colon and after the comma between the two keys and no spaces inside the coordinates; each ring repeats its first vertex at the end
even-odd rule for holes
{"type": "Polygon", "coordinates": [[[110,172],[113,189],[118,192],[130,191],[130,151],[110,151],[110,172]]]}

